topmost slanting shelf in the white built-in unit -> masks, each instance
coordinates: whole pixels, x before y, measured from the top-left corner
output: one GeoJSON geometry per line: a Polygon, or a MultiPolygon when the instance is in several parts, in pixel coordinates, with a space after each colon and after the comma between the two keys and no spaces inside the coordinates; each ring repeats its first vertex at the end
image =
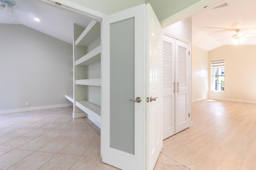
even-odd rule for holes
{"type": "Polygon", "coordinates": [[[92,20],[81,35],[76,39],[75,45],[87,47],[98,39],[98,37],[100,37],[100,22],[92,20]]]}

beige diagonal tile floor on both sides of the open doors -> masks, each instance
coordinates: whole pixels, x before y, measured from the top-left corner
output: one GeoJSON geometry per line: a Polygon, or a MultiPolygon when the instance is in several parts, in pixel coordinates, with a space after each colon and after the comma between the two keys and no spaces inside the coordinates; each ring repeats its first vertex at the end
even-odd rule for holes
{"type": "MultiPolygon", "coordinates": [[[[115,170],[100,157],[100,129],[72,107],[0,115],[0,170],[115,170]]],[[[154,170],[188,170],[161,153],[154,170]]]]}

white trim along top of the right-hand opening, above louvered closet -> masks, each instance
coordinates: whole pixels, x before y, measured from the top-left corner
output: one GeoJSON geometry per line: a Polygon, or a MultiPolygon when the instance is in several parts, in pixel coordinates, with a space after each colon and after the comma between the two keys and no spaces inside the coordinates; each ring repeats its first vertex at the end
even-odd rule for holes
{"type": "Polygon", "coordinates": [[[196,2],[195,4],[189,6],[188,8],[185,8],[184,10],[181,10],[180,12],[177,12],[173,14],[172,16],[160,21],[162,27],[168,27],[169,25],[172,25],[173,23],[176,23],[178,21],[184,20],[188,17],[195,16],[196,14],[200,14],[203,12],[203,7],[208,6],[212,7],[216,4],[219,4],[221,2],[224,2],[224,0],[200,0],[196,2]]]}

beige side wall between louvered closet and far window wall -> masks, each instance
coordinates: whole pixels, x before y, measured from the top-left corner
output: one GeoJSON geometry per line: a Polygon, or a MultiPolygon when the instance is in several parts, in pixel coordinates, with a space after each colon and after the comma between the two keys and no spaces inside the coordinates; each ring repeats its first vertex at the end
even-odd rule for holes
{"type": "Polygon", "coordinates": [[[192,102],[208,97],[208,51],[192,45],[192,102]]]}

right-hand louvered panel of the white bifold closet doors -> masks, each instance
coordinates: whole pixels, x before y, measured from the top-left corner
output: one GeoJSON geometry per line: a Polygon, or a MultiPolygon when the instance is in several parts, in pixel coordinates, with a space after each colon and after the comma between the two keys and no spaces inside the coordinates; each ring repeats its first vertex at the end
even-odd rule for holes
{"type": "Polygon", "coordinates": [[[176,95],[175,95],[175,133],[178,133],[189,127],[188,113],[188,48],[189,45],[176,40],[176,95]]]}

